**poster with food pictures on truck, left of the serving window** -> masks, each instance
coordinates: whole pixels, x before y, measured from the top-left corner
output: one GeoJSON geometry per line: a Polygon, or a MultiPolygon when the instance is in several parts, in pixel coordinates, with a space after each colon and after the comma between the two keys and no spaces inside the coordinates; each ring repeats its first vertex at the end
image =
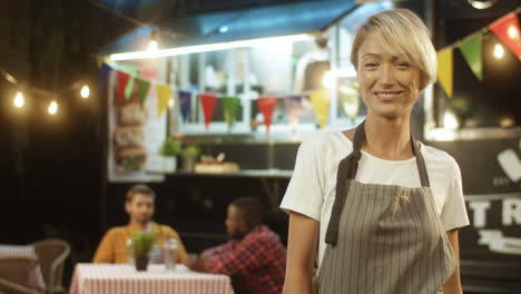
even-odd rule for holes
{"type": "Polygon", "coordinates": [[[126,69],[112,69],[107,82],[108,180],[161,182],[163,175],[151,173],[161,169],[159,148],[167,133],[167,111],[158,110],[157,72],[126,69]]]}

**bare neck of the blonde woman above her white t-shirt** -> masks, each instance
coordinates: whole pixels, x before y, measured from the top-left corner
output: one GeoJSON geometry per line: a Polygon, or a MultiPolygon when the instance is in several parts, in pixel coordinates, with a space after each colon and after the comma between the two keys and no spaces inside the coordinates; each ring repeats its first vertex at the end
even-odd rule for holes
{"type": "Polygon", "coordinates": [[[362,149],[387,160],[404,160],[414,157],[411,147],[410,118],[386,119],[367,116],[365,144],[362,149]]]}

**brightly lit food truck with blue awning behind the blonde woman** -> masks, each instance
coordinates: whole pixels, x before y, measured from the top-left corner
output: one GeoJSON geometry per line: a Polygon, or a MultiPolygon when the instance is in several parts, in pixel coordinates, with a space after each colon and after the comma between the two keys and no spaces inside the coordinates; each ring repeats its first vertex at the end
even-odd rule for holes
{"type": "MultiPolygon", "coordinates": [[[[255,196],[286,239],[278,205],[298,146],[363,121],[351,43],[368,16],[393,7],[425,20],[444,74],[415,105],[412,131],[461,168],[464,291],[520,293],[521,63],[505,39],[519,33],[520,1],[294,1],[138,28],[106,49],[100,70],[107,195],[151,183],[157,217],[195,251],[226,239],[232,199],[255,196]]],[[[125,218],[107,214],[117,197],[102,200],[105,224],[125,218]]]]}

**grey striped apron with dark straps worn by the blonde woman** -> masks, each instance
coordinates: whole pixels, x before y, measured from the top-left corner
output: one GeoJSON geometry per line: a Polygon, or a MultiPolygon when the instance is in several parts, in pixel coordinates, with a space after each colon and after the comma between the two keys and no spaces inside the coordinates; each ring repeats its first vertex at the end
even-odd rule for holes
{"type": "Polygon", "coordinates": [[[438,216],[425,161],[412,138],[421,187],[355,180],[364,122],[338,166],[336,195],[318,270],[321,294],[434,294],[456,259],[438,216]]]}

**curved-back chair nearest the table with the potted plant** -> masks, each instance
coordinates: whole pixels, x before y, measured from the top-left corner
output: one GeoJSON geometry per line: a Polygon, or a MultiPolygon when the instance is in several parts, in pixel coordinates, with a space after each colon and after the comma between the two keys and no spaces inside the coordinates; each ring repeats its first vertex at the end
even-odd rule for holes
{"type": "Polygon", "coordinates": [[[65,293],[63,267],[70,254],[70,246],[62,239],[42,239],[35,242],[35,252],[40,263],[47,293],[65,293]]]}

